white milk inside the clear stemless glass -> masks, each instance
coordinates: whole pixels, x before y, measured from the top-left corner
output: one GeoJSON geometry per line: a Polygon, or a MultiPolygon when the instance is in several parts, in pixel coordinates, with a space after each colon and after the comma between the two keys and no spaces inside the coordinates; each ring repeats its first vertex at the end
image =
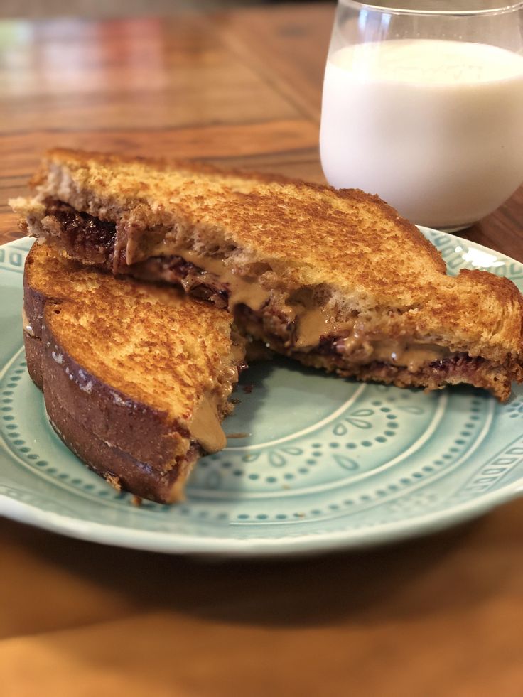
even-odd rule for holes
{"type": "Polygon", "coordinates": [[[478,43],[388,40],[330,55],[323,171],[431,227],[495,210],[523,180],[523,58],[478,43]]]}

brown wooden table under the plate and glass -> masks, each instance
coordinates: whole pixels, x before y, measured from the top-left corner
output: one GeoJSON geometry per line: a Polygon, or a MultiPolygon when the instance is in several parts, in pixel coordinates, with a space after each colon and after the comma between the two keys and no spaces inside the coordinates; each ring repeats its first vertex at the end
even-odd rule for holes
{"type": "MultiPolygon", "coordinates": [[[[0,24],[6,199],[57,144],[322,180],[332,6],[0,24]]],[[[523,260],[523,189],[468,232],[523,260]]],[[[208,563],[0,520],[0,693],[523,694],[523,501],[365,553],[208,563]]]]}

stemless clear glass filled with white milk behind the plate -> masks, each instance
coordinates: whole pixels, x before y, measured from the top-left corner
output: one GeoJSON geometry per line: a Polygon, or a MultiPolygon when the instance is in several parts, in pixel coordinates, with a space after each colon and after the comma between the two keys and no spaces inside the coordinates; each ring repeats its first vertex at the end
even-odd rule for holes
{"type": "Polygon", "coordinates": [[[523,181],[523,2],[385,4],[338,2],[323,171],[419,225],[463,229],[523,181]]]}

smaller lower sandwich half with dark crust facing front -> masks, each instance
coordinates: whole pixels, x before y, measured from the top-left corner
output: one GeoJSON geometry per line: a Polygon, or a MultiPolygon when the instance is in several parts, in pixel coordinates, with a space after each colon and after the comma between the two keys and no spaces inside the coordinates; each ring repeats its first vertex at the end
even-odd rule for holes
{"type": "Polygon", "coordinates": [[[65,445],[117,489],[183,498],[243,366],[226,310],[34,244],[23,278],[28,372],[65,445]]]}

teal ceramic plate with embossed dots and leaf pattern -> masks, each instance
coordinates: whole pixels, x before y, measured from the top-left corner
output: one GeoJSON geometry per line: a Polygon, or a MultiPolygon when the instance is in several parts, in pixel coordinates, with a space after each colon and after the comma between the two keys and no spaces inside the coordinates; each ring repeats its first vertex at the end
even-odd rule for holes
{"type": "MultiPolygon", "coordinates": [[[[523,265],[423,229],[451,273],[523,287],[523,265]]],[[[358,384],[276,360],[242,377],[227,448],[200,460],[183,504],[131,503],[61,443],[22,349],[23,261],[0,247],[0,514],[63,534],[161,552],[271,555],[356,548],[477,517],[523,492],[523,389],[358,384]],[[253,389],[250,389],[250,386],[253,389]],[[247,435],[248,434],[248,435],[247,435]]]]}

